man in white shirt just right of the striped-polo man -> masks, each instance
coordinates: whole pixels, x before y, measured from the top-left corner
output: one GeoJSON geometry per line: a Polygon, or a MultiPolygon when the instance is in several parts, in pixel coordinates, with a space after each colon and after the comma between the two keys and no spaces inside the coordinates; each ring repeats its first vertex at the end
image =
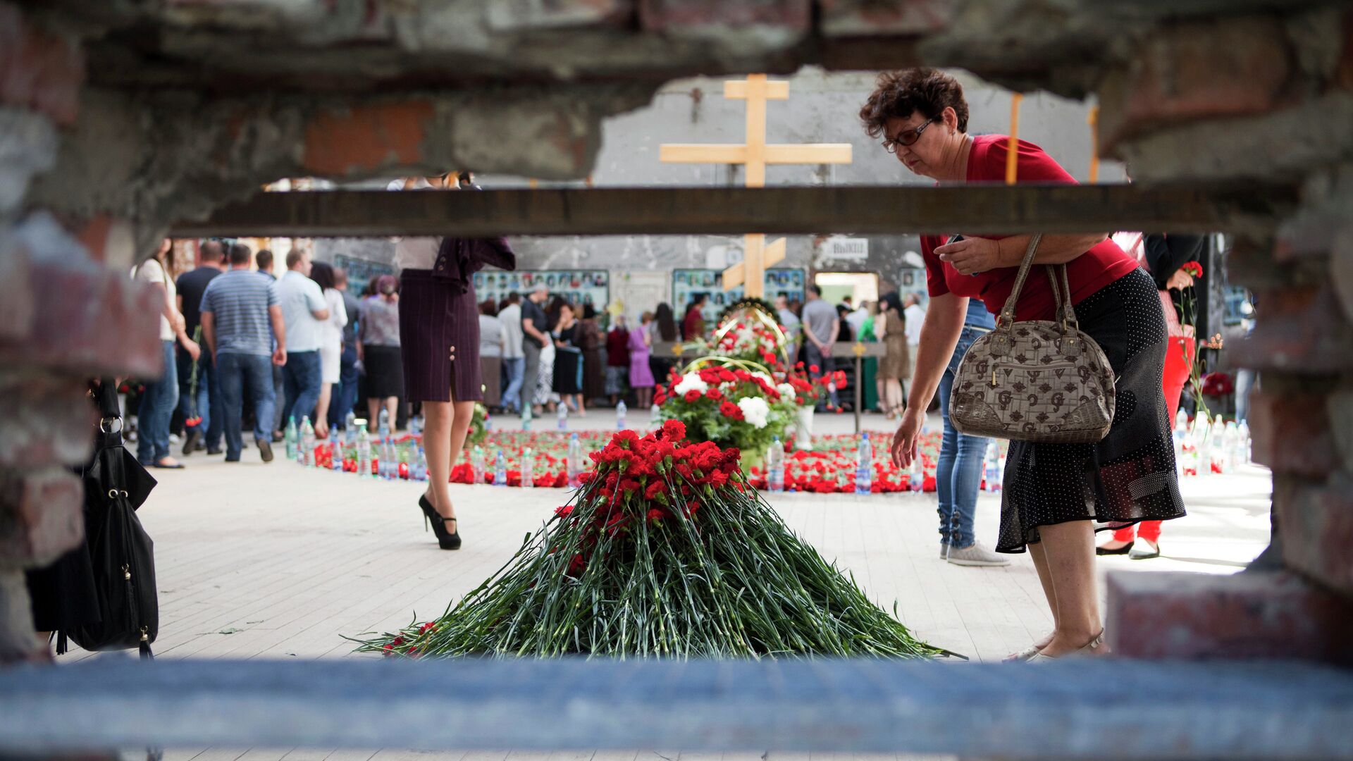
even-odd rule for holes
{"type": "Polygon", "coordinates": [[[296,424],[315,414],[319,401],[319,344],[322,324],[329,320],[329,305],[319,283],[310,279],[310,255],[291,249],[287,274],[277,280],[277,301],[287,326],[287,364],[281,367],[285,398],[281,404],[284,424],[296,424]]]}

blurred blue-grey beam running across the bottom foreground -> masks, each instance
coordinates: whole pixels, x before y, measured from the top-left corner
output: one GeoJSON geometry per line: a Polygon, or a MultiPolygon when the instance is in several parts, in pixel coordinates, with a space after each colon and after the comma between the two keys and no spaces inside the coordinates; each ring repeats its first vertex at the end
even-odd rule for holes
{"type": "Polygon", "coordinates": [[[0,753],[157,745],[1103,758],[1112,749],[1120,760],[1353,760],[1353,674],[1281,661],[106,658],[0,670],[0,753]]]}

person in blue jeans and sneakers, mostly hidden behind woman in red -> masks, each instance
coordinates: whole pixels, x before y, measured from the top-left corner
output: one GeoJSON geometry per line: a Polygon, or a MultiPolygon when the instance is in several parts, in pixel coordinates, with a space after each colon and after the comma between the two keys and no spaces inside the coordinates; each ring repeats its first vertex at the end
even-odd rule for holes
{"type": "Polygon", "coordinates": [[[944,421],[939,462],[935,464],[935,492],[939,497],[939,557],[957,566],[1008,566],[1009,558],[990,551],[973,535],[977,513],[977,490],[982,485],[982,462],[986,439],[966,436],[948,421],[948,393],[958,375],[958,364],[978,336],[996,326],[996,320],[981,299],[967,299],[963,332],[954,347],[948,368],[939,379],[939,410],[944,421]]]}

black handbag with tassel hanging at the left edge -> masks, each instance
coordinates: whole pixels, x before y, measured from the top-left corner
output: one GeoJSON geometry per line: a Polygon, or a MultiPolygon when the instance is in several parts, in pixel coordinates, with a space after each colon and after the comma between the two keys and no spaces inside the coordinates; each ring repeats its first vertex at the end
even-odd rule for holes
{"type": "Polygon", "coordinates": [[[103,417],[95,456],[84,470],[84,509],[101,620],[58,632],[57,653],[66,651],[69,638],[85,650],[137,647],[142,658],[150,658],[150,643],[160,631],[160,601],[154,542],[142,528],[137,508],[156,479],[122,445],[116,385],[104,380],[93,395],[103,417]]]}

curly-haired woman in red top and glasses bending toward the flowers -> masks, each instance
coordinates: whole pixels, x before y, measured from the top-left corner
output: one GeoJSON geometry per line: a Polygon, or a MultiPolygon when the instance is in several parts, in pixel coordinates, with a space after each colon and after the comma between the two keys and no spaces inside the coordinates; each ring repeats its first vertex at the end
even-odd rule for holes
{"type": "MultiPolygon", "coordinates": [[[[917,175],[946,183],[1005,179],[1011,139],[969,135],[963,88],[943,72],[881,74],[861,119],[870,135],[882,137],[884,148],[917,175]]],[[[1020,181],[1076,181],[1036,145],[1017,141],[1015,150],[1020,181]]],[[[893,460],[900,467],[916,456],[924,410],[958,343],[967,299],[982,299],[999,314],[1028,241],[1030,236],[990,234],[947,244],[939,236],[921,238],[931,299],[907,413],[893,436],[893,460]]],[[[996,551],[1030,550],[1054,622],[1050,635],[1013,659],[1108,650],[1095,592],[1092,520],[1119,528],[1184,515],[1161,393],[1165,320],[1150,275],[1107,234],[1043,236],[1035,261],[1066,264],[1080,328],[1108,355],[1118,402],[1112,428],[1097,444],[1011,441],[996,551]]],[[[1051,320],[1053,311],[1047,279],[1030,278],[1016,320],[1051,320]]]]}

